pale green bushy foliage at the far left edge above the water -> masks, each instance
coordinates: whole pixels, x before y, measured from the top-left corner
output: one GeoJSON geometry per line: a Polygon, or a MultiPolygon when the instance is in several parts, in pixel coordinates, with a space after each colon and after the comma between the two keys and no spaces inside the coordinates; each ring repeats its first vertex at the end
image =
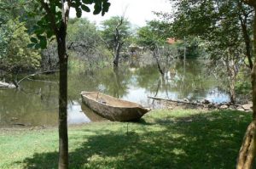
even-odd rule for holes
{"type": "Polygon", "coordinates": [[[27,28],[36,18],[28,13],[36,3],[25,0],[0,2],[0,65],[7,73],[17,70],[34,70],[40,66],[40,51],[27,48],[30,36],[27,28]]]}

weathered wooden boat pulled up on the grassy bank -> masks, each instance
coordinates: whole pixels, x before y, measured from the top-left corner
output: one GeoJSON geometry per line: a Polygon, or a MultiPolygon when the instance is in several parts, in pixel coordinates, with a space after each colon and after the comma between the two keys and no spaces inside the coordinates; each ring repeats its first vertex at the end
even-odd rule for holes
{"type": "Polygon", "coordinates": [[[84,104],[110,121],[137,121],[149,111],[140,104],[99,92],[82,92],[81,96],[84,104]]]}

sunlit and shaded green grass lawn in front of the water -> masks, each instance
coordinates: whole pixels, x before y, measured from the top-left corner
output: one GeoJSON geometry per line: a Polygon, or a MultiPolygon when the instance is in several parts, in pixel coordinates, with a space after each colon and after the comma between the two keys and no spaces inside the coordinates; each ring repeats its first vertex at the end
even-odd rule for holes
{"type": "MultiPolygon", "coordinates": [[[[153,110],[69,127],[70,168],[235,168],[251,114],[153,110]],[[128,124],[128,134],[127,134],[128,124]]],[[[0,168],[57,168],[57,129],[0,130],[0,168]]]]}

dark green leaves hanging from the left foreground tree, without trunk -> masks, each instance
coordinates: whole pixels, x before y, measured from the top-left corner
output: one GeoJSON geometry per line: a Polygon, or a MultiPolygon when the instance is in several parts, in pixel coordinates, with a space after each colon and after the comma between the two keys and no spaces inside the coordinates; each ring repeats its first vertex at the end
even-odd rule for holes
{"type": "MultiPolygon", "coordinates": [[[[108,0],[73,0],[70,4],[71,7],[75,8],[76,15],[78,18],[82,16],[82,12],[90,12],[90,8],[88,5],[94,3],[94,11],[93,14],[104,15],[108,12],[108,8],[110,7],[110,3],[108,0]]],[[[36,37],[31,38],[31,42],[27,47],[29,48],[46,48],[47,47],[47,39],[53,37],[56,32],[52,28],[52,25],[56,25],[56,30],[59,30],[61,27],[62,20],[62,4],[61,1],[49,1],[47,3],[49,10],[46,12],[43,9],[39,14],[42,14],[42,18],[38,20],[37,25],[32,27],[30,30],[31,35],[36,34],[36,37]],[[55,23],[52,23],[55,20],[55,23]]],[[[42,7],[41,7],[42,8],[42,7]]],[[[38,11],[39,12],[39,11],[38,11]]],[[[31,12],[30,16],[37,16],[37,12],[31,12]]]]}

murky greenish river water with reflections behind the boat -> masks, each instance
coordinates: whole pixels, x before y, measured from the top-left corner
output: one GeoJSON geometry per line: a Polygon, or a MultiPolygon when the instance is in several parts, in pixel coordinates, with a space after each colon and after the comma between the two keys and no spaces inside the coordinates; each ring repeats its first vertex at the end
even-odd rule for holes
{"type": "MultiPolygon", "coordinates": [[[[208,99],[215,103],[229,101],[224,79],[207,70],[201,60],[172,61],[163,66],[129,62],[119,70],[68,71],[68,124],[102,121],[102,117],[81,103],[81,91],[100,91],[119,99],[154,106],[154,96],[165,99],[208,99]]],[[[58,73],[33,76],[20,83],[21,90],[0,89],[0,127],[56,126],[58,124],[58,73]]]]}

